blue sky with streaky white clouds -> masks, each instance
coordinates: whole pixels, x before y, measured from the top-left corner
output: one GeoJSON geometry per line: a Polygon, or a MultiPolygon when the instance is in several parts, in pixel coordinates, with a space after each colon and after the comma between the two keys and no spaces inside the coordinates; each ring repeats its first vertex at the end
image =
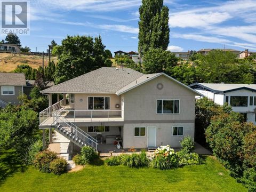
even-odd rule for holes
{"type": "MultiPolygon", "coordinates": [[[[171,51],[256,50],[256,1],[165,0],[171,51]],[[213,3],[212,3],[213,2],[213,3]]],[[[111,52],[137,51],[141,0],[30,0],[30,35],[21,44],[45,51],[67,35],[101,35],[111,52]]],[[[4,38],[1,36],[1,38],[4,38]]]]}

